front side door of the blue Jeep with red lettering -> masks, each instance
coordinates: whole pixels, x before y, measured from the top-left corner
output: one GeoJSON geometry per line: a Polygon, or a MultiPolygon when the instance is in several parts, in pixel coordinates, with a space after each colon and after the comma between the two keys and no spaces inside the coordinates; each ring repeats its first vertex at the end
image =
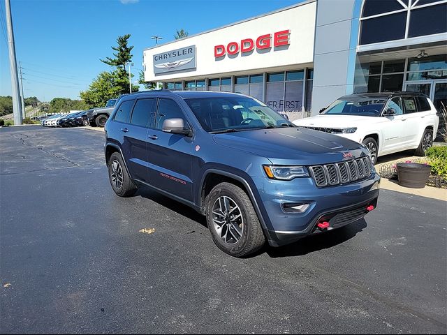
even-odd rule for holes
{"type": "Polygon", "coordinates": [[[147,133],[150,184],[184,200],[192,201],[192,139],[185,135],[164,133],[165,119],[182,118],[182,107],[172,98],[158,98],[155,124],[147,133]]]}

